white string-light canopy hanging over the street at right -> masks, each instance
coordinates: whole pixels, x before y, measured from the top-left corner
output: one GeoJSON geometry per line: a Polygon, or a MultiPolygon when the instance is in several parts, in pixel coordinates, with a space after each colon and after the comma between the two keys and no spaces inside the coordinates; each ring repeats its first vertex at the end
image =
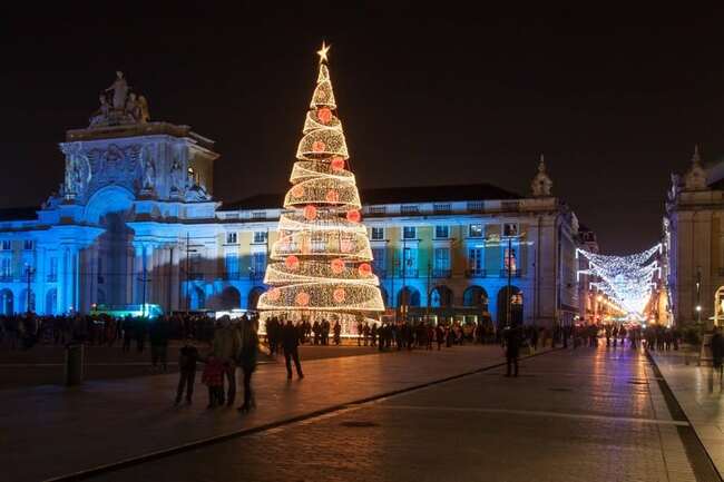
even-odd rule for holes
{"type": "Polygon", "coordinates": [[[608,256],[577,249],[576,256],[583,255],[588,260],[588,269],[579,274],[598,277],[591,283],[629,314],[640,317],[650,299],[654,276],[661,274],[658,260],[661,244],[642,253],[628,256],[608,256]]]}

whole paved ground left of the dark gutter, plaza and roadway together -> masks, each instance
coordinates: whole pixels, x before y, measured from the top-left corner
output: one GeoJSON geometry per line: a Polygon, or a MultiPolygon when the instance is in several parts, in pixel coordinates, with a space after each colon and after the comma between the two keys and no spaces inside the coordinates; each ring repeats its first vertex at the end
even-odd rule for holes
{"type": "Polygon", "coordinates": [[[173,374],[6,390],[1,463],[18,481],[721,480],[643,353],[558,350],[518,378],[502,362],[497,346],[370,354],[292,382],[270,363],[244,416],[205,410],[200,385],[173,407],[173,374]]]}

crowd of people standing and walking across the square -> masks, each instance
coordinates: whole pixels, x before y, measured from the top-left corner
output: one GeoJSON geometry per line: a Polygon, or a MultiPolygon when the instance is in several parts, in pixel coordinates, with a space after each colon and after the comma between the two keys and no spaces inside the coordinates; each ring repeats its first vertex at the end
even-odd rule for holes
{"type": "MultiPolygon", "coordinates": [[[[574,348],[596,347],[605,340],[607,347],[652,351],[678,350],[683,340],[676,327],[638,324],[576,324],[555,325],[552,328],[534,325],[497,329],[489,321],[481,323],[369,322],[354,326],[356,334],[351,343],[376,350],[442,350],[463,344],[500,344],[506,351],[508,376],[518,375],[521,350],[535,352],[540,347],[561,345],[574,348]]],[[[204,365],[202,382],[208,387],[208,406],[234,404],[236,396],[236,368],[241,368],[244,384],[244,403],[241,411],[255,406],[251,378],[256,367],[260,346],[264,344],[271,356],[283,354],[287,377],[294,371],[304,377],[299,346],[341,345],[342,326],[339,321],[315,319],[293,323],[283,317],[266,321],[260,340],[258,319],[252,315],[231,319],[214,319],[199,314],[173,314],[149,321],[146,318],[112,318],[107,315],[37,316],[33,314],[0,316],[0,346],[28,350],[36,344],[65,345],[81,342],[89,345],[114,346],[123,352],[144,352],[149,345],[151,366],[166,371],[170,340],[183,340],[179,350],[179,382],[176,404],[184,399],[190,403],[198,364],[204,365]],[[294,368],[294,370],[293,370],[294,368]]],[[[349,343],[349,342],[348,342],[349,343]]],[[[689,342],[691,343],[691,342],[689,342]]],[[[722,372],[724,337],[715,331],[712,341],[714,366],[722,372]]]]}

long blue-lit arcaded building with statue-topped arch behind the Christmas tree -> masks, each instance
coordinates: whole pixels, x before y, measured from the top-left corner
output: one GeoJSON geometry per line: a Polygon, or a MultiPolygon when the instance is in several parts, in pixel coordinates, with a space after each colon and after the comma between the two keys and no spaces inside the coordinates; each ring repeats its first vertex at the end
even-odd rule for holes
{"type": "MultiPolygon", "coordinates": [[[[59,191],[0,213],[0,313],[253,309],[282,195],[217,201],[212,140],[102,101],[60,144],[59,191]]],[[[528,197],[490,185],[362,190],[385,305],[409,318],[571,323],[578,222],[551,187],[541,158],[528,197]]]]}

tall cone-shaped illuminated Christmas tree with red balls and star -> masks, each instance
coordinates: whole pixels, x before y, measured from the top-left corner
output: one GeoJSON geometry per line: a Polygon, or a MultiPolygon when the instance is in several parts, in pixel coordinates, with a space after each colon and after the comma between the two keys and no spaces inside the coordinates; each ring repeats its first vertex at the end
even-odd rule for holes
{"type": "Polygon", "coordinates": [[[263,319],[339,319],[342,333],[384,311],[372,250],[361,223],[360,195],[350,171],[342,122],[322,43],[320,71],[304,121],[258,302],[263,319]]]}

